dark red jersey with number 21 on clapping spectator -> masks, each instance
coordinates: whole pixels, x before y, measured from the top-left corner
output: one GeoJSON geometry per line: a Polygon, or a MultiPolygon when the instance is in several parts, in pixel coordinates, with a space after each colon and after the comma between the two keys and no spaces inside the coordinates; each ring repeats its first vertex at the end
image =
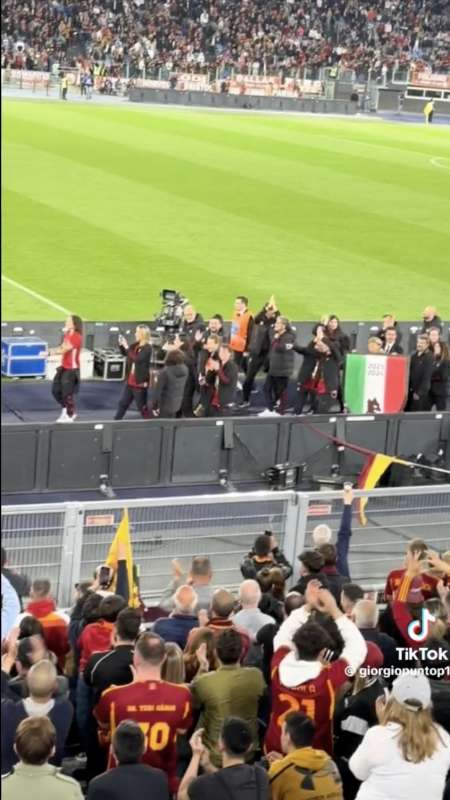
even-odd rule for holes
{"type": "MultiPolygon", "coordinates": [[[[266,753],[281,753],[281,728],[284,719],[291,711],[302,711],[315,723],[313,747],[331,755],[335,691],[348,681],[348,664],[343,659],[326,664],[322,666],[317,678],[288,687],[283,685],[280,678],[280,664],[286,656],[294,657],[288,647],[280,647],[272,659],[272,713],[264,749],[266,753]]],[[[308,662],[301,663],[306,665],[308,662]]],[[[299,673],[301,675],[301,669],[299,673]]]]}

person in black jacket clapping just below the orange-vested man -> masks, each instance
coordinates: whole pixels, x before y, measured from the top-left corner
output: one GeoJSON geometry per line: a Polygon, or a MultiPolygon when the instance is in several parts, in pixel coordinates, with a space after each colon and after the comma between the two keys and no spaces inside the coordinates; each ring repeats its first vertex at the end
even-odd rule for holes
{"type": "Polygon", "coordinates": [[[223,417],[232,413],[238,381],[238,368],[231,347],[221,344],[218,357],[209,359],[206,373],[207,403],[205,416],[223,417]]]}

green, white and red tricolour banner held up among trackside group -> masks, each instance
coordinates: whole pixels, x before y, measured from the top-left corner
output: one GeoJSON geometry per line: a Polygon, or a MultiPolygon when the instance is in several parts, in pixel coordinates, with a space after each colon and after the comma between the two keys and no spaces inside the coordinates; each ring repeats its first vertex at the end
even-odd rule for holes
{"type": "Polygon", "coordinates": [[[406,402],[408,377],[405,356],[351,353],[345,361],[345,405],[352,414],[396,414],[406,402]]]}

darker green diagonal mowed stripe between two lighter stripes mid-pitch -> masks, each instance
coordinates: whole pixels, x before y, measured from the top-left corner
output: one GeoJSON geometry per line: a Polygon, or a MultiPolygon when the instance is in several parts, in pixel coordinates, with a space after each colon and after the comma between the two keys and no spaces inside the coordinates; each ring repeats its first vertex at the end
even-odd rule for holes
{"type": "MultiPolygon", "coordinates": [[[[26,141],[26,126],[15,126],[17,141],[26,141]]],[[[373,214],[361,198],[361,209],[342,206],[338,186],[333,198],[319,199],[292,192],[286,187],[274,191],[260,180],[226,173],[215,166],[197,167],[182,157],[161,152],[151,161],[147,153],[121,145],[117,148],[104,140],[81,132],[64,138],[43,124],[34,124],[33,147],[70,158],[77,164],[103,169],[107,174],[130,178],[164,193],[202,203],[220,214],[238,215],[251,222],[278,229],[280,236],[297,231],[305,238],[338,248],[344,253],[385,260],[407,267],[419,274],[429,272],[429,254],[435,251],[433,271],[437,277],[448,275],[450,232],[430,231],[403,222],[401,228],[388,216],[373,214]],[[401,236],[399,232],[401,230],[401,236]]],[[[388,212],[389,213],[389,212],[388,212]]]]}

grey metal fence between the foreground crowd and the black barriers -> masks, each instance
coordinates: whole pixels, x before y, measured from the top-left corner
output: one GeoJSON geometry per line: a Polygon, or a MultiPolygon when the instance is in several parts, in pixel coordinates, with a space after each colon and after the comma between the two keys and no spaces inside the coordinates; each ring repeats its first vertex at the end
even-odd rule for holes
{"type": "MultiPolygon", "coordinates": [[[[405,543],[420,536],[438,550],[450,548],[450,486],[377,489],[370,493],[368,524],[356,511],[350,550],[352,579],[366,587],[383,585],[399,564],[405,543]]],[[[272,530],[286,556],[311,544],[315,525],[326,522],[334,534],[342,512],[340,492],[253,492],[2,509],[3,546],[13,568],[31,578],[48,577],[58,602],[68,606],[73,585],[92,577],[128,508],[135,562],[143,597],[157,601],[171,575],[170,562],[186,569],[192,556],[207,555],[214,584],[236,587],[239,564],[255,536],[272,530]]]]}

